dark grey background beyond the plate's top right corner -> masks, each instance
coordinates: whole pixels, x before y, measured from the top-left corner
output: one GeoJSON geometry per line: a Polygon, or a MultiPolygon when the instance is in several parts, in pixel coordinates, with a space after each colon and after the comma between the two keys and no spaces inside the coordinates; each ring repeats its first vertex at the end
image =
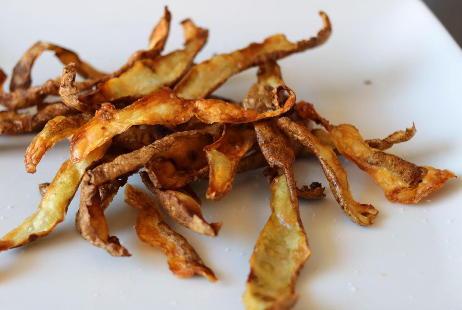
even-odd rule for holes
{"type": "Polygon", "coordinates": [[[462,0],[424,0],[462,47],[462,0]]]}

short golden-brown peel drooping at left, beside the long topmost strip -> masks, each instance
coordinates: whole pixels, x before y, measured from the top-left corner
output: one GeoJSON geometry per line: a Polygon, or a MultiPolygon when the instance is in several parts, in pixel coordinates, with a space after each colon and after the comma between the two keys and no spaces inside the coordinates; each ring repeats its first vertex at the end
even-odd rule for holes
{"type": "Polygon", "coordinates": [[[24,155],[24,165],[28,173],[35,173],[36,166],[46,151],[51,149],[56,142],[73,135],[91,119],[91,113],[80,113],[75,116],[56,116],[48,121],[43,130],[32,139],[24,155]]]}

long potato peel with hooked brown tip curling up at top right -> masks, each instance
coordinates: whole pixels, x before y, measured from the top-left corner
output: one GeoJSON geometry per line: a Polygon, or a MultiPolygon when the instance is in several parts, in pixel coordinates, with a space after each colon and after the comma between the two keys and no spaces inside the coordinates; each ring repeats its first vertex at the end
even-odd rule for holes
{"type": "Polygon", "coordinates": [[[321,45],[330,36],[331,25],[324,12],[320,12],[320,15],[324,28],[318,32],[316,37],[292,43],[287,41],[284,35],[279,34],[268,37],[262,43],[252,43],[230,54],[214,56],[194,66],[178,82],[175,87],[176,95],[184,99],[206,98],[238,72],[321,45]]]}

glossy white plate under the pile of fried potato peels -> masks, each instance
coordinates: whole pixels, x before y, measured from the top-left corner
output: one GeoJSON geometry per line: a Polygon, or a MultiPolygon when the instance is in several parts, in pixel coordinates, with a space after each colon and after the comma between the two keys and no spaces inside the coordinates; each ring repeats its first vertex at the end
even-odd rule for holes
{"type": "MultiPolygon", "coordinates": [[[[417,0],[383,1],[170,1],[172,33],[167,50],[179,48],[178,23],[192,17],[210,29],[197,61],[242,48],[276,32],[291,40],[314,35],[317,11],[333,23],[328,43],[280,61],[298,99],[313,102],[332,123],[356,125],[365,138],[385,137],[414,121],[418,133],[391,149],[417,164],[461,175],[462,53],[437,19],[417,0]],[[251,3],[250,3],[251,2],[251,3]],[[365,85],[371,80],[371,85],[365,85]]],[[[37,40],[78,51],[101,70],[120,66],[147,37],[162,13],[150,1],[2,1],[1,66],[6,72],[37,40]]],[[[217,94],[240,100],[255,81],[255,69],[231,78],[217,94]]],[[[61,74],[51,54],[33,69],[34,84],[61,74]]],[[[0,234],[33,213],[37,184],[50,181],[68,156],[68,142],[44,156],[37,173],[24,170],[33,135],[0,138],[0,234]],[[8,208],[12,205],[12,208],[8,208]]],[[[295,309],[462,309],[461,181],[416,205],[388,203],[370,177],[340,159],[354,197],[380,215],[358,227],[340,212],[328,188],[320,201],[301,201],[301,218],[312,256],[300,274],[295,309]]],[[[298,184],[327,185],[315,159],[298,161],[298,184]]],[[[130,183],[140,185],[138,176],[130,183]]],[[[196,186],[204,198],[205,183],[196,186]]],[[[207,220],[224,221],[218,238],[172,224],[202,256],[219,282],[176,279],[164,255],[138,240],[136,210],[119,194],[107,211],[110,233],[133,254],[115,258],[79,237],[67,219],[48,237],[0,254],[1,309],[241,309],[248,260],[270,211],[261,171],[239,175],[219,203],[205,198],[207,220]]],[[[77,196],[78,197],[78,196],[77,196]]]]}

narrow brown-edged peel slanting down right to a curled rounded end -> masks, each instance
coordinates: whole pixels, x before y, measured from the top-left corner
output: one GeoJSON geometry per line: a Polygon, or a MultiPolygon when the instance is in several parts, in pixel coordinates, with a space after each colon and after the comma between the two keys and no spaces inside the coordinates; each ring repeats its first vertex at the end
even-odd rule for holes
{"type": "Polygon", "coordinates": [[[372,225],[378,211],[370,204],[358,203],[353,199],[346,179],[346,171],[341,166],[334,151],[322,144],[308,128],[298,125],[286,117],[278,119],[278,125],[289,136],[297,139],[315,153],[329,181],[335,200],[339,203],[343,213],[360,226],[372,225]]]}

